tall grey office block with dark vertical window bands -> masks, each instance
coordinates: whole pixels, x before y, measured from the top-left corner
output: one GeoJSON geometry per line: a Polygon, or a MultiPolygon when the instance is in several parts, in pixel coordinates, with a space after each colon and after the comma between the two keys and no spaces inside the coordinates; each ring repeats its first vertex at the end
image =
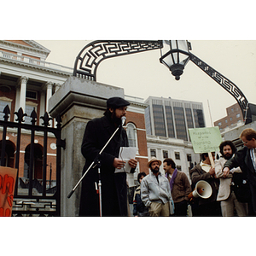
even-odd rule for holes
{"type": "Polygon", "coordinates": [[[189,128],[205,127],[201,102],[150,96],[145,103],[148,135],[189,141],[189,128]]]}

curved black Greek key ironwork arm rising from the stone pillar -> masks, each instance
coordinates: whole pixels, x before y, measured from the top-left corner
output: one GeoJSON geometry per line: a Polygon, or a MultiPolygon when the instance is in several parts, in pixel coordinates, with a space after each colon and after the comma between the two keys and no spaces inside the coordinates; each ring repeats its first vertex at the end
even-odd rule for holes
{"type": "Polygon", "coordinates": [[[162,41],[93,41],[76,58],[73,76],[96,81],[100,62],[108,58],[162,48],[162,41]]]}

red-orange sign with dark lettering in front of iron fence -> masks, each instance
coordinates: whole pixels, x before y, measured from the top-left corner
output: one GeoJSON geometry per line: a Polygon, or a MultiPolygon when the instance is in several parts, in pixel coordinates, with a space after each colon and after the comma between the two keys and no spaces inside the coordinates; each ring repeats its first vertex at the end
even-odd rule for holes
{"type": "Polygon", "coordinates": [[[17,169],[0,166],[0,217],[10,217],[15,194],[17,169]]]}

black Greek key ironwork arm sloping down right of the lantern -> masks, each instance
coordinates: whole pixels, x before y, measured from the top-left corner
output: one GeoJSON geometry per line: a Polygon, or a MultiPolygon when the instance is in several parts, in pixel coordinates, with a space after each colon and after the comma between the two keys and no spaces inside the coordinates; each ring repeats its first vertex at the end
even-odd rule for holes
{"type": "Polygon", "coordinates": [[[201,61],[198,57],[190,53],[190,60],[195,63],[196,66],[200,67],[207,75],[209,75],[215,82],[217,82],[220,86],[227,90],[231,96],[236,99],[238,102],[243,117],[245,117],[247,110],[247,98],[243,95],[241,90],[230,81],[230,79],[225,78],[221,73],[218,73],[214,68],[207,65],[206,62],[201,61]]]}

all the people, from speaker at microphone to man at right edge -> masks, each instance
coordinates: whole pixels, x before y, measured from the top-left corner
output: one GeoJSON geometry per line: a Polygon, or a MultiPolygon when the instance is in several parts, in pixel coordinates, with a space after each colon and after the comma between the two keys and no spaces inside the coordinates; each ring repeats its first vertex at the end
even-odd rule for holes
{"type": "MultiPolygon", "coordinates": [[[[129,105],[121,97],[109,98],[104,116],[86,125],[81,147],[86,160],[84,172],[100,162],[101,173],[99,176],[95,164],[84,177],[79,216],[128,216],[126,173],[115,171],[125,166],[119,150],[129,146],[122,121],[129,105]],[[96,189],[99,178],[104,184],[101,198],[96,189]]],[[[137,176],[133,216],[185,217],[189,205],[195,217],[255,216],[256,131],[247,128],[240,138],[245,147],[237,152],[231,141],[225,141],[219,145],[220,156],[215,152],[201,154],[201,162],[189,170],[191,183],[171,158],[163,160],[163,165],[155,157],[149,160],[149,174],[140,172],[137,176]]],[[[137,160],[128,164],[131,173],[135,172],[137,160]]]]}

